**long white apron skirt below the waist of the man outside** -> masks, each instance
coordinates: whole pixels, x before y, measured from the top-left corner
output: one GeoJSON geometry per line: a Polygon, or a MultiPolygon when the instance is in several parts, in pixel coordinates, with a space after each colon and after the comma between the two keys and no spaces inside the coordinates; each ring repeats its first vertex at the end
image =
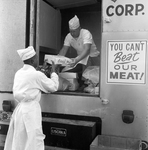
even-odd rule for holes
{"type": "Polygon", "coordinates": [[[44,150],[41,119],[39,102],[20,102],[13,112],[4,150],[44,150]]]}

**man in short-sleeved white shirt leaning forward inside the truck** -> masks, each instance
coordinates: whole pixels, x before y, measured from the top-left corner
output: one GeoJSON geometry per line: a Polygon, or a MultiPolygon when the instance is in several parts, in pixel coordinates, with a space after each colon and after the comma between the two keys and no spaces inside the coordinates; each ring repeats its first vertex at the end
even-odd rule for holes
{"type": "Polygon", "coordinates": [[[65,56],[70,47],[77,52],[77,57],[72,58],[72,63],[64,68],[68,72],[79,73],[79,78],[87,66],[93,65],[92,58],[99,56],[99,51],[94,43],[90,31],[82,29],[79,18],[75,15],[69,20],[69,33],[65,37],[64,45],[59,55],[65,56]]]}

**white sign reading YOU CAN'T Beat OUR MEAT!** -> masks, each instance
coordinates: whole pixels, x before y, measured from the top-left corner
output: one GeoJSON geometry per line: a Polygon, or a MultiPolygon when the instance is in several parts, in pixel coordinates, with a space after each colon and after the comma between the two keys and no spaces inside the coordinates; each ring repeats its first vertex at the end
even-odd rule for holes
{"type": "Polygon", "coordinates": [[[108,41],[107,44],[107,82],[145,84],[147,41],[108,41]]]}

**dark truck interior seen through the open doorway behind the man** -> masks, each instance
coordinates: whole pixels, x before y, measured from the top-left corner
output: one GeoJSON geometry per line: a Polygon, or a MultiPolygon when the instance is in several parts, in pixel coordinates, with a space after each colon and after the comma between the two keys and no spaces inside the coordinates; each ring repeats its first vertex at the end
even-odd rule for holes
{"type": "MultiPolygon", "coordinates": [[[[101,0],[42,0],[39,6],[39,65],[44,63],[45,55],[57,55],[63,46],[65,36],[69,33],[68,21],[75,15],[80,20],[81,28],[92,33],[97,49],[101,50],[101,0]]],[[[70,48],[66,54],[68,58],[76,57],[76,52],[70,48]]],[[[99,59],[93,58],[93,66],[100,66],[99,59]]],[[[99,74],[97,75],[99,78],[99,74]]],[[[85,79],[84,79],[85,80],[85,79]]],[[[88,80],[87,80],[88,81],[88,80]]],[[[85,82],[86,83],[86,82],[85,82]]],[[[88,83],[86,86],[88,87],[88,83]]],[[[62,90],[57,94],[72,94],[85,96],[98,96],[96,93],[77,89],[73,91],[62,90]]],[[[96,85],[99,89],[99,83],[96,85]]],[[[95,91],[95,88],[94,90],[95,91]]]]}

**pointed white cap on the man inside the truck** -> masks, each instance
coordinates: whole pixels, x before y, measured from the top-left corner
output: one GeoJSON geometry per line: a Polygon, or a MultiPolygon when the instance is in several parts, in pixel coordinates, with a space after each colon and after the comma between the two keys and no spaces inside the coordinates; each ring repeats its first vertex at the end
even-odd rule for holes
{"type": "Polygon", "coordinates": [[[71,20],[69,20],[69,29],[75,30],[80,26],[79,18],[75,15],[71,20]]]}

